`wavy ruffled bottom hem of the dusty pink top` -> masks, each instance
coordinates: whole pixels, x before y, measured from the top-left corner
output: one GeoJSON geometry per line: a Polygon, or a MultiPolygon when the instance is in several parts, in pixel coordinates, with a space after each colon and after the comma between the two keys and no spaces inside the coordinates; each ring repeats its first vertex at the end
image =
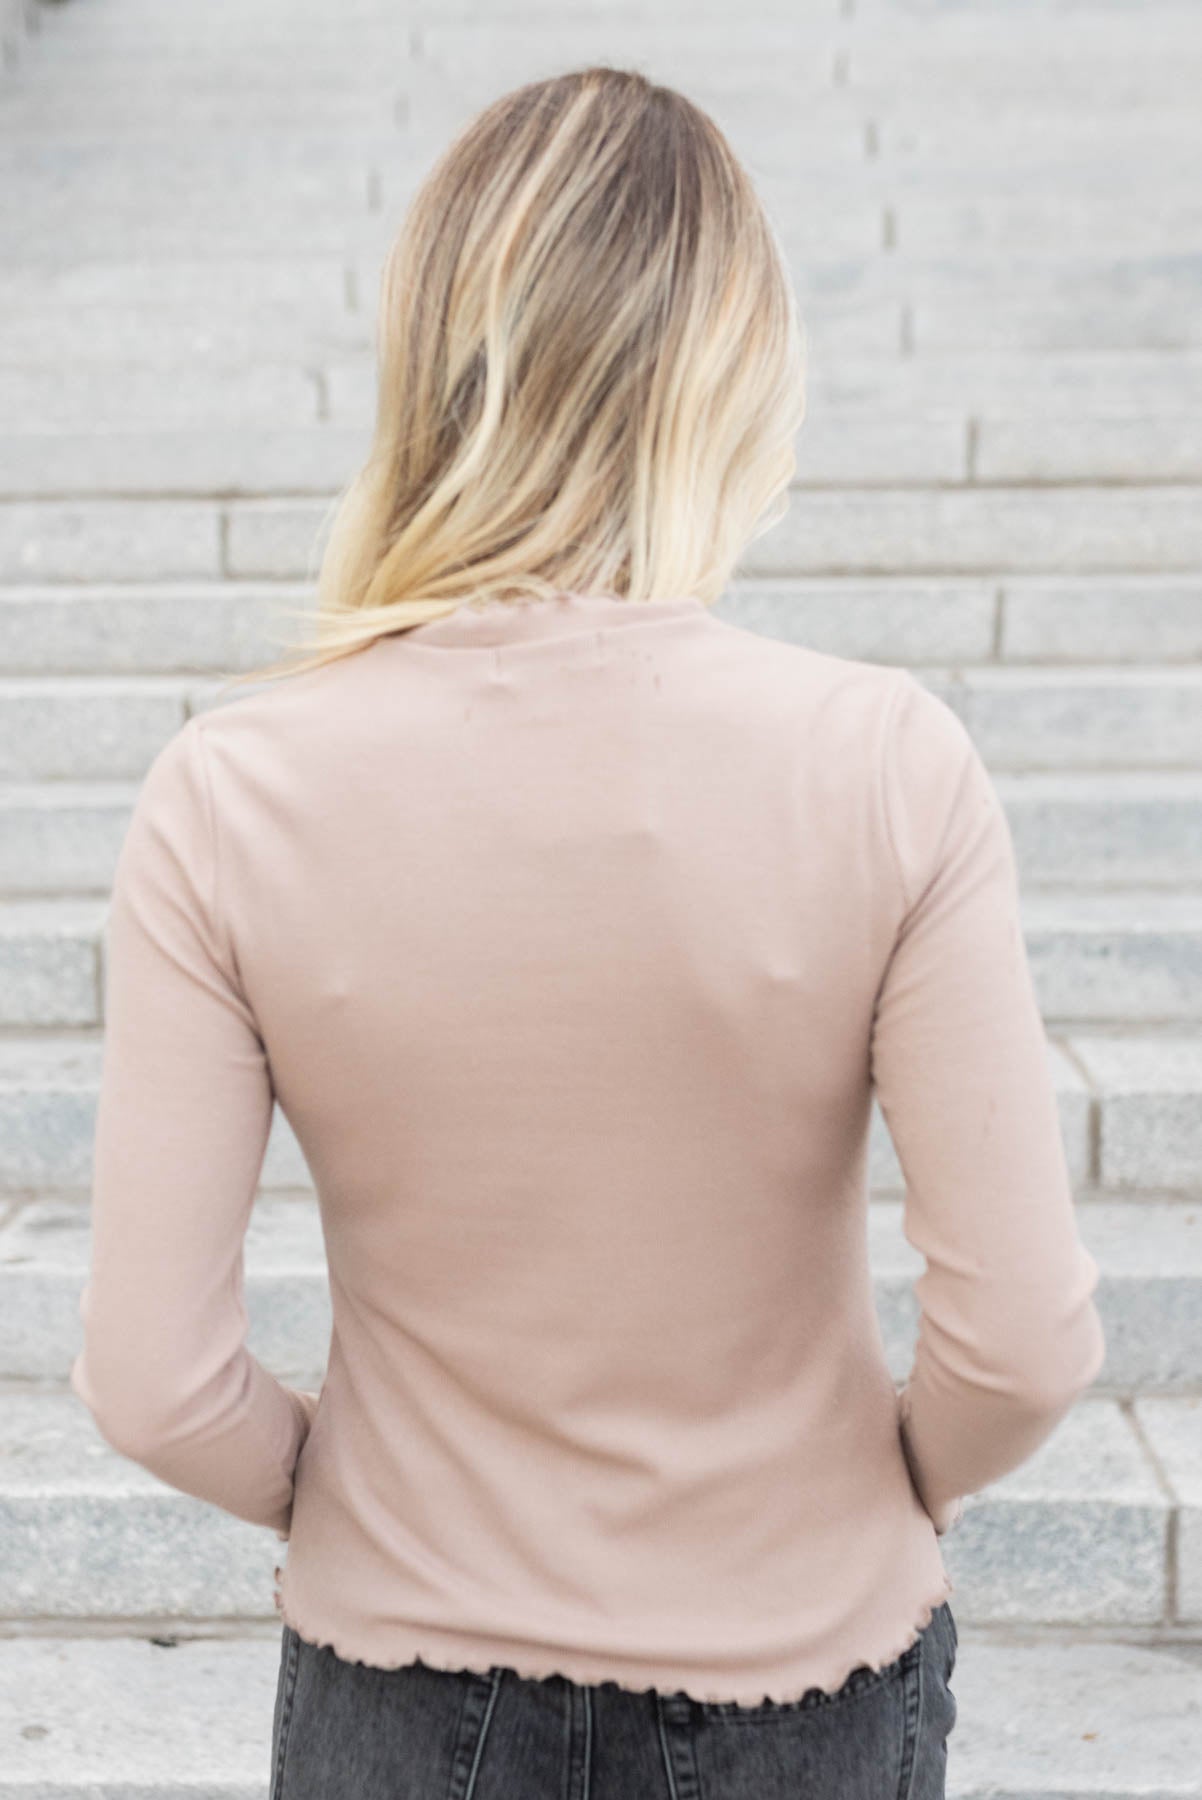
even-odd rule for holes
{"type": "Polygon", "coordinates": [[[831,1676],[828,1676],[826,1683],[810,1681],[804,1687],[786,1687],[786,1688],[777,1688],[776,1692],[765,1692],[761,1699],[743,1699],[743,1696],[731,1692],[718,1692],[716,1688],[698,1688],[698,1687],[671,1688],[666,1687],[662,1681],[650,1683],[648,1687],[635,1687],[633,1681],[623,1679],[621,1676],[601,1674],[596,1669],[592,1674],[588,1674],[585,1669],[578,1667],[578,1672],[572,1674],[569,1667],[551,1667],[547,1663],[540,1663],[536,1658],[531,1656],[520,1656],[513,1661],[509,1660],[484,1661],[484,1658],[480,1658],[475,1663],[464,1663],[432,1656],[426,1654],[425,1651],[414,1651],[408,1656],[399,1656],[396,1661],[374,1661],[369,1656],[360,1656],[344,1640],[324,1638],[318,1631],[311,1629],[309,1625],[304,1625],[297,1616],[293,1616],[292,1606],[284,1602],[279,1584],[281,1584],[281,1570],[277,1568],[275,1611],[279,1613],[283,1624],[288,1625],[292,1631],[295,1631],[295,1634],[313,1649],[333,1651],[335,1656],[338,1656],[342,1661],[358,1663],[363,1669],[383,1669],[390,1674],[396,1672],[398,1669],[434,1669],[439,1674],[482,1676],[482,1678],[488,1678],[495,1669],[504,1669],[506,1672],[518,1676],[522,1681],[540,1681],[540,1683],[570,1681],[578,1687],[617,1688],[621,1694],[632,1694],[637,1699],[648,1699],[659,1694],[664,1697],[695,1699],[707,1706],[731,1706],[731,1708],[749,1708],[749,1710],[756,1710],[759,1706],[795,1706],[803,1701],[813,1701],[813,1705],[821,1705],[822,1701],[835,1699],[842,1690],[842,1687],[846,1685],[846,1681],[860,1669],[866,1669],[871,1674],[885,1674],[885,1670],[889,1670],[894,1663],[898,1663],[907,1654],[907,1651],[910,1651],[918,1643],[923,1631],[927,1631],[927,1627],[930,1625],[930,1620],[934,1618],[936,1611],[952,1593],[955,1593],[955,1582],[945,1571],[943,1580],[939,1584],[939,1593],[932,1600],[927,1600],[923,1604],[918,1624],[910,1625],[905,1638],[896,1647],[889,1649],[882,1658],[878,1658],[878,1661],[866,1661],[864,1658],[858,1658],[855,1661],[840,1665],[831,1676]]]}

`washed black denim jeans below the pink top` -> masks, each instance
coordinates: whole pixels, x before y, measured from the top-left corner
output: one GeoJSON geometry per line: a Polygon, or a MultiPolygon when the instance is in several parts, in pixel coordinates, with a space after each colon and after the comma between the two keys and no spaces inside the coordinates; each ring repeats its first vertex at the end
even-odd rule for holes
{"type": "Polygon", "coordinates": [[[945,1600],[837,1694],[740,1706],[407,1663],[283,1627],[270,1800],[945,1800],[957,1633],[945,1600]]]}

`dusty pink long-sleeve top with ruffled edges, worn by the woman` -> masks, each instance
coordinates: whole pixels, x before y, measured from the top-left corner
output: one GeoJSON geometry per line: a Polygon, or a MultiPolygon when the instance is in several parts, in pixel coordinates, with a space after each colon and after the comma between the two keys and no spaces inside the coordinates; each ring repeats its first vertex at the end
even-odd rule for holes
{"type": "Polygon", "coordinates": [[[695,598],[461,605],[176,731],[112,887],[92,1233],[99,1431],[385,1669],[835,1690],[1105,1354],[966,727],[695,598]],[[925,1258],[902,1391],[873,1100],[925,1258]],[[275,1105],[318,1391],[247,1346],[275,1105]]]}

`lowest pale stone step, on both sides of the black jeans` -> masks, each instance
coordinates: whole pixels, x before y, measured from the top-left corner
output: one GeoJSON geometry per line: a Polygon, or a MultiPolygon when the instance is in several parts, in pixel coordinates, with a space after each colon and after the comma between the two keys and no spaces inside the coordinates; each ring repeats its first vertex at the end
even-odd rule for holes
{"type": "MultiPolygon", "coordinates": [[[[957,1636],[948,1800],[1202,1800],[1197,1640],[957,1636]]],[[[277,1625],[0,1638],[0,1800],[266,1800],[277,1676],[277,1625]]]]}

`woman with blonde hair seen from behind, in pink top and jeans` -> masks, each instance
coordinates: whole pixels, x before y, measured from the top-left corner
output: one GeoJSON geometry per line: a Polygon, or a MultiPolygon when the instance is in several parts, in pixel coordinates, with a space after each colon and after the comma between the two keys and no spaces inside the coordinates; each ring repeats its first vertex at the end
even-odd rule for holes
{"type": "Polygon", "coordinates": [[[489,106],[378,342],[315,637],[121,850],[72,1384],[288,1541],[275,1800],[934,1800],[939,1539],[1103,1357],[1000,803],[907,670],[711,610],[803,335],[680,94],[489,106]],[[927,1258],[900,1395],[873,1096],[927,1258]],[[320,1395],[245,1343],[275,1102],[320,1395]]]}

